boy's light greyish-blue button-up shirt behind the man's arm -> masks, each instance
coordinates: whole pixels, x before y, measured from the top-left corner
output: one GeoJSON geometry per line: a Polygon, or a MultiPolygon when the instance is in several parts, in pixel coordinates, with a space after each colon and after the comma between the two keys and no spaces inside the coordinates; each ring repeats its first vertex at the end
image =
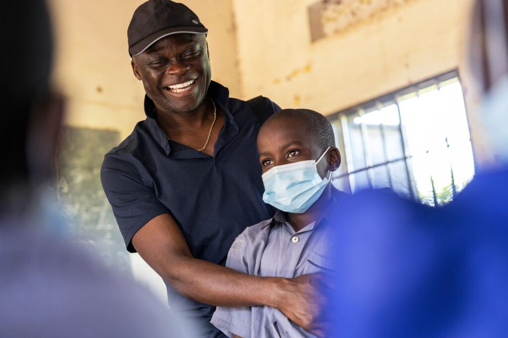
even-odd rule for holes
{"type": "MultiPolygon", "coordinates": [[[[330,208],[335,206],[333,200],[330,208]]],[[[226,266],[239,272],[292,278],[331,269],[327,258],[330,222],[326,216],[295,232],[284,212],[248,227],[236,238],[226,266]]],[[[296,295],[295,295],[296,296],[296,295]]],[[[291,322],[282,312],[266,306],[217,307],[211,323],[227,334],[244,338],[315,337],[291,322]]]]}

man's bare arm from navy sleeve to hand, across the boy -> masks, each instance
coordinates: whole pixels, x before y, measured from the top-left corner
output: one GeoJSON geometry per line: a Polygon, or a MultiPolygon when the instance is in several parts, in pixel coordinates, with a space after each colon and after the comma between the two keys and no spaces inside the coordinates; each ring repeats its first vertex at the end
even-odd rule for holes
{"type": "Polygon", "coordinates": [[[148,221],[132,243],[157,274],[189,298],[224,307],[270,306],[307,331],[315,328],[322,299],[310,275],[293,279],[249,276],[196,259],[170,214],[148,221]]]}

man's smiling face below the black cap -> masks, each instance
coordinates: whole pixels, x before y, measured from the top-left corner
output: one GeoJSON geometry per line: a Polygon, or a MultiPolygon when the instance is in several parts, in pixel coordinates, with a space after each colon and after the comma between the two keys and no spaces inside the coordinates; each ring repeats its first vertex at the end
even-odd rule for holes
{"type": "Polygon", "coordinates": [[[192,111],[205,99],[211,81],[206,37],[169,35],[135,56],[132,68],[157,110],[192,111]]]}

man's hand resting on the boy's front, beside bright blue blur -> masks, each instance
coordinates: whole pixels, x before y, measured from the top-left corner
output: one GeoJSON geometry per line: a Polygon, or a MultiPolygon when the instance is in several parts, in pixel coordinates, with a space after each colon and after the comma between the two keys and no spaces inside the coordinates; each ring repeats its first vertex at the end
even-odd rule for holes
{"type": "Polygon", "coordinates": [[[323,286],[326,279],[323,274],[309,274],[295,277],[289,280],[290,294],[293,296],[285,299],[280,311],[305,331],[316,336],[325,335],[322,310],[325,305],[323,286]]]}

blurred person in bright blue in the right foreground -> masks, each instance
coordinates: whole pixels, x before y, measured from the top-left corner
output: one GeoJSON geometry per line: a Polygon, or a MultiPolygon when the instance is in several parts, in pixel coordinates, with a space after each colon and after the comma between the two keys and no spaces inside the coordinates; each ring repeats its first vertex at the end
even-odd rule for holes
{"type": "Polygon", "coordinates": [[[502,337],[508,332],[508,0],[478,0],[469,65],[496,161],[449,205],[372,191],[341,214],[333,337],[502,337]]]}

